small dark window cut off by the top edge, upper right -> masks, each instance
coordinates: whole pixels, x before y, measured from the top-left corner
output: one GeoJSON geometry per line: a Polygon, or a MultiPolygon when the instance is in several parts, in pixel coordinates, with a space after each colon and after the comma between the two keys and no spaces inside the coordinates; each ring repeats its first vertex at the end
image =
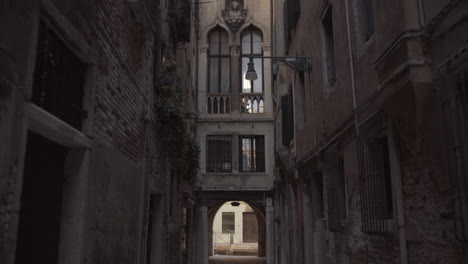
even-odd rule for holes
{"type": "Polygon", "coordinates": [[[374,34],[373,0],[355,0],[358,41],[365,43],[374,34]]]}

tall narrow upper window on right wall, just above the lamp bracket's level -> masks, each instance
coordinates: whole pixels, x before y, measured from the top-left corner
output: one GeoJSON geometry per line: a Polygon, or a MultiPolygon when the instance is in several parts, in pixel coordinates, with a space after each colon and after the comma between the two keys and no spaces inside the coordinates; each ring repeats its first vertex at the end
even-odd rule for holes
{"type": "Polygon", "coordinates": [[[331,88],[336,82],[335,39],[331,5],[328,5],[322,17],[322,32],[325,87],[331,88]]]}

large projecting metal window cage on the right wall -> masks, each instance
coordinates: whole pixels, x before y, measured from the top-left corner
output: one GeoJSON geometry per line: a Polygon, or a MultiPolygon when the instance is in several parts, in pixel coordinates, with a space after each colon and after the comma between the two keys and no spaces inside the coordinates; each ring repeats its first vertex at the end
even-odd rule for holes
{"type": "Polygon", "coordinates": [[[361,216],[365,233],[388,232],[386,220],[393,218],[386,130],[386,119],[381,111],[359,126],[361,216]]]}

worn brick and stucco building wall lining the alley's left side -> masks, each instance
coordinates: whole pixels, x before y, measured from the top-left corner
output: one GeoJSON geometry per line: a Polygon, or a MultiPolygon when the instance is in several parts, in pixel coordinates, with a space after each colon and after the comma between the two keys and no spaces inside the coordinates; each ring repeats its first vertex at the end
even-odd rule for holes
{"type": "Polygon", "coordinates": [[[153,107],[162,56],[189,38],[179,2],[0,4],[1,263],[184,260],[191,188],[153,107]]]}

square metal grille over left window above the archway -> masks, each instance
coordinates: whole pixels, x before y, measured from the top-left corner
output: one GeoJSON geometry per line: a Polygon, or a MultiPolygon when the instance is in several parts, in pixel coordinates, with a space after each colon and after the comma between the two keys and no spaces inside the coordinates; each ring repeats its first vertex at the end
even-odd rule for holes
{"type": "Polygon", "coordinates": [[[206,171],[232,171],[231,135],[211,135],[206,137],[206,171]]]}

